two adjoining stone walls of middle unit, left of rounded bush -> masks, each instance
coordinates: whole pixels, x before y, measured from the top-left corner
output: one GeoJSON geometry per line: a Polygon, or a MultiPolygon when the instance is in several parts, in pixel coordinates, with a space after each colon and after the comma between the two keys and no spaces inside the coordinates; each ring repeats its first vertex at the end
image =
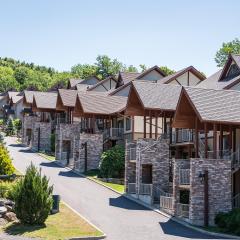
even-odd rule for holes
{"type": "Polygon", "coordinates": [[[56,160],[61,161],[63,165],[68,164],[75,171],[84,172],[87,159],[87,170],[97,169],[102,152],[102,133],[80,133],[80,123],[61,123],[57,126],[55,154],[56,160]],[[69,152],[68,160],[66,152],[69,152]]]}

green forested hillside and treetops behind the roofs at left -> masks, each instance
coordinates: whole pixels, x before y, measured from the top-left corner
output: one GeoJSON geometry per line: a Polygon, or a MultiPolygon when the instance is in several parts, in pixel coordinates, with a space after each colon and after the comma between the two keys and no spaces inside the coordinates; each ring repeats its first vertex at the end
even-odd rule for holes
{"type": "MultiPolygon", "coordinates": [[[[146,66],[140,65],[139,68],[140,71],[144,71],[146,66]]],[[[161,69],[167,74],[173,72],[167,67],[161,69]]],[[[104,79],[119,71],[137,72],[138,69],[132,65],[126,66],[106,55],[99,55],[94,64],[77,64],[68,72],[58,72],[51,67],[38,66],[12,58],[0,58],[0,92],[24,89],[47,91],[65,87],[70,78],[84,79],[97,75],[100,79],[104,79]]]]}

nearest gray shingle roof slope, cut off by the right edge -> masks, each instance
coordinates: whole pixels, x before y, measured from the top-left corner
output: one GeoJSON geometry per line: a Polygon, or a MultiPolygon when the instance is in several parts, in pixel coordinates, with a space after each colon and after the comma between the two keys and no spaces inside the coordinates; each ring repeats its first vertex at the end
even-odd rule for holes
{"type": "Polygon", "coordinates": [[[184,87],[203,121],[240,123],[240,92],[184,87]]]}

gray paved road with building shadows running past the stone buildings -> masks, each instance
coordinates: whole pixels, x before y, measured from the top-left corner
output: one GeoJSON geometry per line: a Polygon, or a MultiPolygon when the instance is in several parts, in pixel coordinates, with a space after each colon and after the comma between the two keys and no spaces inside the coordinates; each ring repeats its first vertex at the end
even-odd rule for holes
{"type": "Polygon", "coordinates": [[[109,240],[213,239],[59,167],[15,144],[12,138],[7,138],[6,142],[17,169],[24,172],[31,162],[41,167],[54,184],[54,192],[102,229],[109,240]]]}

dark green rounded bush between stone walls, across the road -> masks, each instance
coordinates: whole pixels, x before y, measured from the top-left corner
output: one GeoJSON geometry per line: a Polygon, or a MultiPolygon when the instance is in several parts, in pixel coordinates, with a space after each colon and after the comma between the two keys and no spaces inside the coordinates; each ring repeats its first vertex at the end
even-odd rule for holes
{"type": "Polygon", "coordinates": [[[125,151],[116,145],[102,153],[100,163],[100,177],[121,178],[124,174],[125,151]]]}

